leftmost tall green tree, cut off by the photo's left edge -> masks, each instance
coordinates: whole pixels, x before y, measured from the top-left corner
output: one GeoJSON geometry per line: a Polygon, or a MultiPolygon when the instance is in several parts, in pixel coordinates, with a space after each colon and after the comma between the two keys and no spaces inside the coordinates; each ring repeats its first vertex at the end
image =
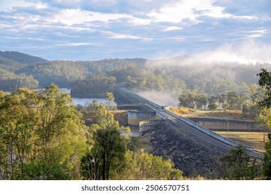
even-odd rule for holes
{"type": "Polygon", "coordinates": [[[2,96],[0,106],[0,169],[4,179],[22,177],[24,164],[34,155],[38,122],[35,104],[38,93],[29,89],[19,89],[10,95],[2,96]]]}

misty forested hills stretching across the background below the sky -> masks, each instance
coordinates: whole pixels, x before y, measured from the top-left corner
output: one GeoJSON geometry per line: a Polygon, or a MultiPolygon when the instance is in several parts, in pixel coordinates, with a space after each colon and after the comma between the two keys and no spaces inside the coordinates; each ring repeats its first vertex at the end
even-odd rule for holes
{"type": "Polygon", "coordinates": [[[0,90],[47,87],[54,83],[72,89],[72,96],[81,98],[104,96],[115,85],[165,91],[175,97],[186,91],[207,96],[228,91],[248,94],[254,92],[260,69],[270,66],[268,63],[204,62],[189,56],[166,60],[47,61],[24,53],[0,51],[0,90]]]}

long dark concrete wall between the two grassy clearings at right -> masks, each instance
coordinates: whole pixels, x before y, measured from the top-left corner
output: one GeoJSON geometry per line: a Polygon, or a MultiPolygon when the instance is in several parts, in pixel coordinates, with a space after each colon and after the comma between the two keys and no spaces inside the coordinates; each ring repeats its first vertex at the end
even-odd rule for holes
{"type": "Polygon", "coordinates": [[[233,119],[223,119],[223,118],[188,118],[191,121],[206,127],[209,130],[217,130],[217,131],[249,131],[249,132],[257,132],[262,131],[258,129],[255,121],[240,121],[240,120],[233,120],[233,119]]]}

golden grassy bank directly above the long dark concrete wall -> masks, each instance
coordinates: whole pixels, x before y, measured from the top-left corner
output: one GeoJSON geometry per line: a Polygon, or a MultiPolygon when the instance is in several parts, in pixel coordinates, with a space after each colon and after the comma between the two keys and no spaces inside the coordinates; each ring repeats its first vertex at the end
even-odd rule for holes
{"type": "Polygon", "coordinates": [[[208,111],[188,108],[171,108],[169,111],[183,117],[226,118],[251,121],[251,119],[244,117],[242,112],[238,110],[208,111]]]}

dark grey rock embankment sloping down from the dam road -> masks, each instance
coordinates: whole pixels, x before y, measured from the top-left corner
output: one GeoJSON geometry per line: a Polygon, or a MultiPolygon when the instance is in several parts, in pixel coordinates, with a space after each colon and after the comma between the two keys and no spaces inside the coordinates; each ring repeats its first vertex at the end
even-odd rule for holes
{"type": "Polygon", "coordinates": [[[174,125],[172,121],[163,120],[142,132],[150,139],[153,155],[172,159],[176,168],[183,170],[188,177],[198,175],[208,179],[219,178],[218,157],[225,152],[211,145],[206,145],[192,134],[174,125]]]}

